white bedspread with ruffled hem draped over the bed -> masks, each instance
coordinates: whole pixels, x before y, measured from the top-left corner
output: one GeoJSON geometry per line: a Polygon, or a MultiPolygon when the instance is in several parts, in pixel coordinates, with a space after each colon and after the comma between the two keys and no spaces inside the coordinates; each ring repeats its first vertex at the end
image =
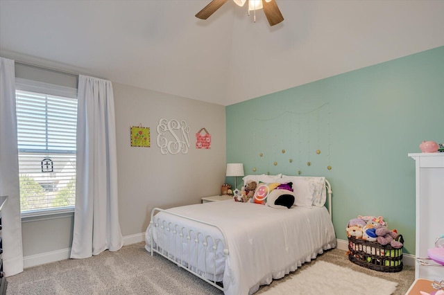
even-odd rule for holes
{"type": "MultiPolygon", "coordinates": [[[[168,211],[221,227],[229,254],[223,271],[225,294],[253,294],[336,247],[336,236],[325,207],[275,209],[229,201],[171,208],[168,211]]],[[[158,213],[162,214],[162,213],[158,213]]],[[[187,221],[187,226],[194,226],[187,221]]],[[[151,237],[146,230],[146,244],[151,237]]],[[[146,249],[149,251],[149,247],[146,249]]],[[[223,269],[223,268],[222,268],[223,269]]]]}

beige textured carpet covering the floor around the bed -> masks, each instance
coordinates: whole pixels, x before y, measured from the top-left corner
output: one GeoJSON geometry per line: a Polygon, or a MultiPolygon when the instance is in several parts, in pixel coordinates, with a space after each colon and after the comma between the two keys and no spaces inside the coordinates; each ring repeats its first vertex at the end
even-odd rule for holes
{"type": "MultiPolygon", "coordinates": [[[[151,256],[144,247],[145,243],[140,242],[124,246],[116,252],[103,251],[91,258],[62,260],[25,269],[21,274],[7,278],[7,295],[223,295],[219,289],[162,256],[151,256]]],[[[358,272],[398,283],[393,295],[405,295],[415,280],[414,267],[404,265],[404,269],[396,273],[373,271],[350,262],[345,251],[332,249],[284,278],[260,287],[255,295],[263,295],[275,287],[286,285],[287,281],[323,261],[342,267],[341,271],[344,268],[354,270],[348,275],[348,284],[353,282],[360,286],[359,292],[354,295],[364,294],[362,291],[366,288],[365,280],[357,279],[358,272]]],[[[317,274],[316,284],[326,277],[327,271],[317,274]]],[[[310,289],[316,284],[309,284],[310,289]]],[[[293,287],[291,292],[285,294],[296,294],[297,289],[293,287]]],[[[324,294],[343,295],[332,287],[324,294]]],[[[372,295],[379,294],[382,293],[377,289],[372,295]]]]}

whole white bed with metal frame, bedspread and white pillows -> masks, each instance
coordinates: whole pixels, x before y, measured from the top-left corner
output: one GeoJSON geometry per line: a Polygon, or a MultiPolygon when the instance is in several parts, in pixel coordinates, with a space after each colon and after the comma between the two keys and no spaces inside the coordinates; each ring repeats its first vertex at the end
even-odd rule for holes
{"type": "Polygon", "coordinates": [[[228,200],[154,208],[146,250],[229,295],[253,294],[260,285],[336,247],[332,190],[325,177],[248,175],[244,183],[251,179],[258,184],[291,183],[294,205],[276,208],[228,200]]]}

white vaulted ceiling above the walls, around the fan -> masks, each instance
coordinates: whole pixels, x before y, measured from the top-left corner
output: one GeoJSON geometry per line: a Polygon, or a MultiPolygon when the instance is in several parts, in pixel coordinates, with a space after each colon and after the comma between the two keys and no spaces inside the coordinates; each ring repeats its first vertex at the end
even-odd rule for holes
{"type": "Polygon", "coordinates": [[[0,0],[0,55],[231,105],[444,45],[444,1],[0,0]]]}

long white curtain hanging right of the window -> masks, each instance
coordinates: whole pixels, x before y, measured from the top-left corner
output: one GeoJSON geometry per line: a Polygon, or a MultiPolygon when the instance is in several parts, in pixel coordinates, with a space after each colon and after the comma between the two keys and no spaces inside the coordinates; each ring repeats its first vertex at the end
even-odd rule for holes
{"type": "Polygon", "coordinates": [[[117,208],[114,96],[108,80],[78,79],[76,210],[71,258],[123,245],[117,208]]]}

